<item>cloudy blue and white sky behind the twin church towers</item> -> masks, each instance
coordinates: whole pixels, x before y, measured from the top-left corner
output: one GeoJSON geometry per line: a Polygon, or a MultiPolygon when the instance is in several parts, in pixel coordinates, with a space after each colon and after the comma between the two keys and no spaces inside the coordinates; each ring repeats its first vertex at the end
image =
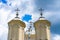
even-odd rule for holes
{"type": "Polygon", "coordinates": [[[51,22],[51,40],[60,40],[60,0],[0,0],[0,40],[7,40],[8,22],[16,16],[16,8],[27,27],[39,19],[43,8],[43,16],[51,22]]]}

